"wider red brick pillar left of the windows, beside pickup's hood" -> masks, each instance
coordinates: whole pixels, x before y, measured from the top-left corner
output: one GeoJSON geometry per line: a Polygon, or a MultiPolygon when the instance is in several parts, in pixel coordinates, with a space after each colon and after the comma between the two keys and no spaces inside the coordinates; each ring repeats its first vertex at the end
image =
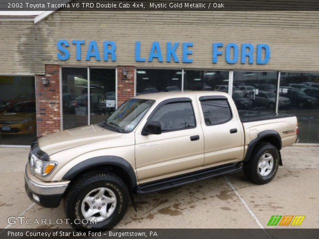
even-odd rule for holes
{"type": "Polygon", "coordinates": [[[35,75],[37,136],[57,132],[61,127],[59,65],[45,65],[48,86],[42,84],[42,77],[35,75]]]}

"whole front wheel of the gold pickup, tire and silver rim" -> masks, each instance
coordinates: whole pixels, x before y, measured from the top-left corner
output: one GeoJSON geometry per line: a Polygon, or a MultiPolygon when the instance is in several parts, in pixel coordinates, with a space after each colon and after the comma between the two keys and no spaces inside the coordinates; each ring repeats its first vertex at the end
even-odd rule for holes
{"type": "Polygon", "coordinates": [[[74,182],[65,198],[64,211],[75,229],[111,229],[126,213],[129,193],[112,173],[91,173],[74,182]]]}

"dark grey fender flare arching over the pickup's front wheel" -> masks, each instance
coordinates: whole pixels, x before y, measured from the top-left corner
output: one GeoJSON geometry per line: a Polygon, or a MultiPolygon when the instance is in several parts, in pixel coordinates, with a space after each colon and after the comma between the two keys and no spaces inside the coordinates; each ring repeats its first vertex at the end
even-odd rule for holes
{"type": "Polygon", "coordinates": [[[122,168],[130,177],[132,186],[137,186],[137,178],[136,174],[134,172],[133,167],[131,164],[126,161],[124,158],[117,157],[117,156],[98,156],[86,159],[78,164],[76,164],[74,167],[72,167],[62,178],[62,180],[71,180],[76,175],[81,173],[82,171],[89,169],[94,166],[103,166],[103,165],[114,165],[122,168]]]}

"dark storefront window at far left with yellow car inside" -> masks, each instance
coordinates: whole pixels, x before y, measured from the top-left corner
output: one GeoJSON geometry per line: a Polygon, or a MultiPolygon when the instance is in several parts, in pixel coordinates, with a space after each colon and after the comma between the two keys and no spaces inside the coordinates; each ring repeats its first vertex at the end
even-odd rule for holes
{"type": "Polygon", "coordinates": [[[0,76],[0,144],[30,145],[36,137],[35,81],[0,76]]]}

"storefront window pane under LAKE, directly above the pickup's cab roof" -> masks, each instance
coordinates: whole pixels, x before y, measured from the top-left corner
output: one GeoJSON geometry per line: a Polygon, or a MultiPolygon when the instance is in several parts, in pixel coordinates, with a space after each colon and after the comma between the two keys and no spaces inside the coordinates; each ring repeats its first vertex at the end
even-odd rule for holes
{"type": "Polygon", "coordinates": [[[181,91],[182,70],[137,69],[136,95],[181,91]]]}

